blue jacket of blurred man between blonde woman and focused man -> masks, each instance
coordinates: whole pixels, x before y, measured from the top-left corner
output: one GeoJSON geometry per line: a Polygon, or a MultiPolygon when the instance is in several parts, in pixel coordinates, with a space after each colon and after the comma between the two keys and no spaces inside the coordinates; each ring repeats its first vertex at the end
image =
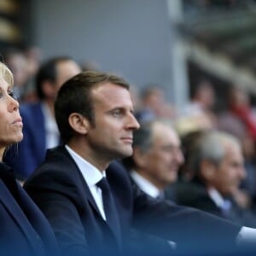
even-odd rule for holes
{"type": "Polygon", "coordinates": [[[4,161],[15,170],[16,177],[26,179],[44,160],[46,131],[41,103],[20,106],[23,120],[23,140],[18,148],[9,148],[4,161]]]}

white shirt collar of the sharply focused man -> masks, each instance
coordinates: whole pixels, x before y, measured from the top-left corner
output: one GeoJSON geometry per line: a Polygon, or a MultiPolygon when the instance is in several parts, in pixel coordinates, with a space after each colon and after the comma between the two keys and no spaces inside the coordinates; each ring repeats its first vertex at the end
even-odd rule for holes
{"type": "Polygon", "coordinates": [[[106,177],[106,172],[99,171],[95,166],[92,166],[88,161],[84,160],[79,154],[73,151],[72,148],[65,145],[68,153],[72,156],[73,160],[79,166],[79,170],[82,173],[85,182],[89,187],[95,186],[102,177],[106,177]]]}

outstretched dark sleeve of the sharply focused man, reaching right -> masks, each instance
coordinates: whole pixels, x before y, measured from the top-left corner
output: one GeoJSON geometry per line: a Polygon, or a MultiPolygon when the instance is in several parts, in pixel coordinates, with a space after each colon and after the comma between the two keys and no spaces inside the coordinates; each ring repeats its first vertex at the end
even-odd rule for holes
{"type": "Polygon", "coordinates": [[[176,241],[183,253],[230,253],[240,225],[171,201],[158,201],[133,187],[134,219],[139,230],[176,241]]]}

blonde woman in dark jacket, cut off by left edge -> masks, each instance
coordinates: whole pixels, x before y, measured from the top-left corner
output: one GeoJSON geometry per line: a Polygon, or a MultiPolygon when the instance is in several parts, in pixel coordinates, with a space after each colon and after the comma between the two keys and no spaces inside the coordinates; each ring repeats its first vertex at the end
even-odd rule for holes
{"type": "Polygon", "coordinates": [[[5,150],[23,137],[13,87],[12,73],[0,62],[0,255],[58,255],[47,219],[3,163],[5,150]]]}

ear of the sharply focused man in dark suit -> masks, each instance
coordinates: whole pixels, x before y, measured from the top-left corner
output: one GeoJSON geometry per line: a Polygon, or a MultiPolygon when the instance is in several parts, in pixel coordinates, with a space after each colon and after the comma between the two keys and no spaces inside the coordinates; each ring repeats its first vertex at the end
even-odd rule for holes
{"type": "Polygon", "coordinates": [[[79,134],[86,134],[90,125],[88,119],[80,113],[71,113],[68,117],[68,123],[79,134]]]}

